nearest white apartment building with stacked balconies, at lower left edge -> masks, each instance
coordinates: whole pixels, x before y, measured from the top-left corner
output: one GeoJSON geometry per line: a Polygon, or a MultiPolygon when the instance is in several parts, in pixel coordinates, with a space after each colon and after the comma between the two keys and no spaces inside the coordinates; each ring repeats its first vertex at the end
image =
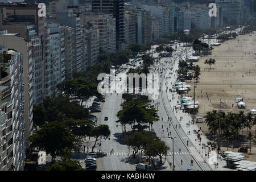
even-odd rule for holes
{"type": "MultiPolygon", "coordinates": [[[[2,46],[0,51],[3,53],[2,46]]],[[[5,75],[1,72],[0,79],[0,171],[22,171],[25,159],[23,56],[13,50],[6,53],[10,60],[4,60],[7,70],[5,75]]]]}

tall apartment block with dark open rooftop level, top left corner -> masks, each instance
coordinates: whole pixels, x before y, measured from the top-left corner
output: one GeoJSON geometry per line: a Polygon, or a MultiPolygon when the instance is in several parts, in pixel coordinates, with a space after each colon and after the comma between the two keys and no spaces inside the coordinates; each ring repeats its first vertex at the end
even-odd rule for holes
{"type": "Polygon", "coordinates": [[[33,59],[32,93],[34,104],[41,104],[44,92],[44,18],[38,16],[38,5],[0,4],[0,28],[19,32],[23,39],[31,40],[33,59]]]}

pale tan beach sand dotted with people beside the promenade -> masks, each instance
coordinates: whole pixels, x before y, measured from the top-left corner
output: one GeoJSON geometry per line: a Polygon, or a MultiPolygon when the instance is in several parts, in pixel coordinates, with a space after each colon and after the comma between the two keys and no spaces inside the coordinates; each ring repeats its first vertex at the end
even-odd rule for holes
{"type": "MultiPolygon", "coordinates": [[[[237,39],[214,47],[212,55],[201,56],[195,64],[201,68],[200,82],[195,89],[195,100],[200,102],[199,114],[196,116],[204,117],[207,111],[219,110],[220,99],[226,102],[225,107],[221,108],[226,112],[238,113],[244,110],[247,113],[249,109],[256,109],[256,32],[251,35],[239,35],[237,39]],[[209,68],[209,65],[204,64],[204,61],[210,58],[215,59],[216,64],[208,70],[206,68],[209,68]],[[246,109],[238,109],[237,97],[243,97],[246,109]]],[[[188,82],[188,84],[191,85],[191,90],[186,96],[193,96],[193,83],[188,82]]],[[[197,125],[201,127],[203,133],[209,133],[205,123],[197,123],[197,125]]],[[[251,129],[253,138],[254,131],[255,126],[251,129]]],[[[246,129],[243,130],[243,135],[245,134],[246,129]]],[[[251,143],[252,148],[256,149],[255,139],[251,143]]],[[[226,147],[223,147],[222,151],[225,150],[226,147]]],[[[254,155],[249,155],[248,160],[256,161],[256,150],[252,152],[254,155]]]]}

